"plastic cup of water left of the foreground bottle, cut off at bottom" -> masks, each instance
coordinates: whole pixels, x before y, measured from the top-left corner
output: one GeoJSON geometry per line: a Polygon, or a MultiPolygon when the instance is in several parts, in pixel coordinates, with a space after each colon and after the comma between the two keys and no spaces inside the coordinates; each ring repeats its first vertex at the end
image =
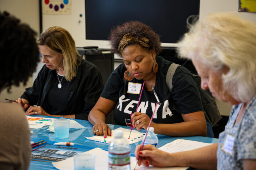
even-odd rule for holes
{"type": "Polygon", "coordinates": [[[81,154],[74,157],[75,170],[94,170],[95,169],[95,155],[81,154]]]}

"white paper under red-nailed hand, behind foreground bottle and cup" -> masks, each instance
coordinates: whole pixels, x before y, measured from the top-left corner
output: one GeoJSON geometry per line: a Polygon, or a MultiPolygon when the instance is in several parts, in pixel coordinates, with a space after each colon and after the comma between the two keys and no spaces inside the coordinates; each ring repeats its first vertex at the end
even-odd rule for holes
{"type": "MultiPolygon", "coordinates": [[[[82,154],[93,154],[96,156],[95,159],[95,170],[108,170],[108,151],[102,150],[100,148],[94,148],[92,150],[89,150],[87,152],[84,152],[82,154]]],[[[131,157],[131,169],[135,166],[136,158],[131,157]]],[[[74,159],[68,158],[63,161],[59,162],[52,162],[52,165],[60,170],[74,170],[74,159]]],[[[143,166],[137,166],[136,170],[144,170],[144,169],[150,169],[150,170],[185,170],[187,168],[185,167],[167,167],[167,168],[159,168],[159,167],[143,167],[143,166]]]]}

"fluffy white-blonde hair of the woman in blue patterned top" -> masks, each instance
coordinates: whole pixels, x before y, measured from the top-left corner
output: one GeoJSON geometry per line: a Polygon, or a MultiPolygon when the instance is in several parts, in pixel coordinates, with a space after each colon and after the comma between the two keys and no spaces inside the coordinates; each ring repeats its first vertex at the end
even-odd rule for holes
{"type": "Polygon", "coordinates": [[[224,90],[248,102],[256,95],[256,24],[233,13],[213,13],[197,21],[179,42],[181,58],[197,58],[205,67],[220,71],[224,90]]]}

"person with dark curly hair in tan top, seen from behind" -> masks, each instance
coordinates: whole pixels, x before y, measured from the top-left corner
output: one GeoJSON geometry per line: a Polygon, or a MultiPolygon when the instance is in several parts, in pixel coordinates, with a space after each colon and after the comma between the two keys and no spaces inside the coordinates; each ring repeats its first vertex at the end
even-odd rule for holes
{"type": "MultiPolygon", "coordinates": [[[[0,12],[0,92],[12,85],[26,84],[39,62],[36,32],[8,12],[0,12]],[[28,65],[30,67],[28,67],[28,65]]],[[[31,146],[29,126],[18,104],[0,103],[0,167],[29,168],[31,146]]]]}

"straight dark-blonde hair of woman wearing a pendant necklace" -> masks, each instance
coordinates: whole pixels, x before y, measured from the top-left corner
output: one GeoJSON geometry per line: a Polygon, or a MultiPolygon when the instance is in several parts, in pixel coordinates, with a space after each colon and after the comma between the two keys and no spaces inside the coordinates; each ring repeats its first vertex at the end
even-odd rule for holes
{"type": "Polygon", "coordinates": [[[76,76],[80,59],[76,50],[75,41],[70,33],[62,27],[50,27],[41,33],[37,40],[38,45],[45,45],[53,52],[63,55],[63,62],[59,67],[64,67],[64,76],[71,81],[76,76]]]}

